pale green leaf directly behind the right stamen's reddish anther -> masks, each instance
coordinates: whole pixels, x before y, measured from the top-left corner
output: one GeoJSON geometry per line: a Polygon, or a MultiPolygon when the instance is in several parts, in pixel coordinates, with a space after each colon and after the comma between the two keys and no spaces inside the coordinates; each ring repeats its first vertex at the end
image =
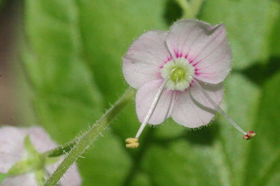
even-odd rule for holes
{"type": "MultiPolygon", "coordinates": [[[[258,136],[258,129],[254,124],[257,121],[261,89],[252,84],[248,78],[239,73],[229,76],[225,83],[225,103],[227,114],[234,119],[245,131],[254,130],[258,136]]],[[[225,119],[218,120],[221,127],[219,141],[221,154],[225,156],[225,163],[229,171],[231,185],[242,185],[244,174],[247,171],[247,150],[255,140],[244,141],[243,134],[232,127],[225,119]]]]}

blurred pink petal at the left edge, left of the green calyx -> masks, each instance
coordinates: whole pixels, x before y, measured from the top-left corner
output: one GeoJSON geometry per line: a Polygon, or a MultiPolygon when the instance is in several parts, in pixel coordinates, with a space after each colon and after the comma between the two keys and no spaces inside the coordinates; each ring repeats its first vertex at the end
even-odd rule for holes
{"type": "Polygon", "coordinates": [[[0,172],[8,170],[18,162],[24,152],[24,138],[27,130],[11,126],[0,128],[0,172]]]}

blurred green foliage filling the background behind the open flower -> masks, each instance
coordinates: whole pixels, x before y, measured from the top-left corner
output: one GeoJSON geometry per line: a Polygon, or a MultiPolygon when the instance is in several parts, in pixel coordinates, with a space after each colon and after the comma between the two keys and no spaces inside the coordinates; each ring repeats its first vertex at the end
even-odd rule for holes
{"type": "MultiPolygon", "coordinates": [[[[234,70],[220,116],[188,131],[169,120],[146,128],[141,146],[134,103],[78,160],[83,185],[280,185],[280,4],[269,0],[205,1],[198,18],[223,22],[234,70]]],[[[122,57],[144,30],[168,30],[181,10],[171,0],[26,0],[22,61],[38,124],[58,143],[94,123],[128,87],[122,57]]],[[[24,112],[24,111],[23,111],[24,112]]],[[[29,121],[27,120],[26,123],[29,121]]]]}

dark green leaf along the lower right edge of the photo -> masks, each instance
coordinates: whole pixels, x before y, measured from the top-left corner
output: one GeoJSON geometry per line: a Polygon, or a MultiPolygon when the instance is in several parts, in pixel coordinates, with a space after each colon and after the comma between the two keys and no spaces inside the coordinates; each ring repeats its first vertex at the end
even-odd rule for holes
{"type": "Polygon", "coordinates": [[[248,152],[246,182],[250,185],[278,185],[280,172],[279,123],[280,123],[280,71],[263,86],[259,114],[254,124],[256,138],[248,152]],[[277,179],[278,178],[278,179],[277,179]],[[275,182],[272,182],[274,180],[275,182]]]}

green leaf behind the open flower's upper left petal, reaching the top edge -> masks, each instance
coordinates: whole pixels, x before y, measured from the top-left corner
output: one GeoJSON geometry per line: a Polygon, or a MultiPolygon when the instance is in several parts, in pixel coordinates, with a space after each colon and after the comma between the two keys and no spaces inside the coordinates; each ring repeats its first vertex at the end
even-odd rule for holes
{"type": "Polygon", "coordinates": [[[133,38],[145,30],[167,30],[162,17],[165,2],[156,1],[78,1],[80,27],[90,69],[98,74],[97,83],[114,102],[125,90],[122,57],[133,38]],[[146,6],[149,5],[149,6],[146,6]]]}

